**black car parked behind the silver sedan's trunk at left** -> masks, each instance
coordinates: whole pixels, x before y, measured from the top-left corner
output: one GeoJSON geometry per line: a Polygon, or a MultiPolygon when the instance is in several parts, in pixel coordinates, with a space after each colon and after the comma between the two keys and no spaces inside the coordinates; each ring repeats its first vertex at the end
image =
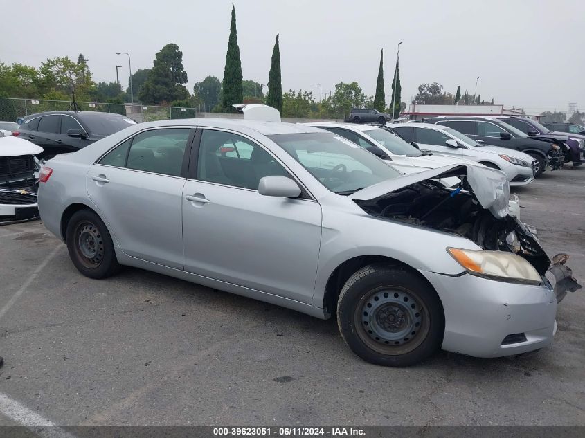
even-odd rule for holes
{"type": "Polygon", "coordinates": [[[126,116],[97,111],[49,111],[19,118],[17,122],[19,128],[12,135],[41,146],[44,152],[39,158],[75,152],[136,124],[126,116]]]}

